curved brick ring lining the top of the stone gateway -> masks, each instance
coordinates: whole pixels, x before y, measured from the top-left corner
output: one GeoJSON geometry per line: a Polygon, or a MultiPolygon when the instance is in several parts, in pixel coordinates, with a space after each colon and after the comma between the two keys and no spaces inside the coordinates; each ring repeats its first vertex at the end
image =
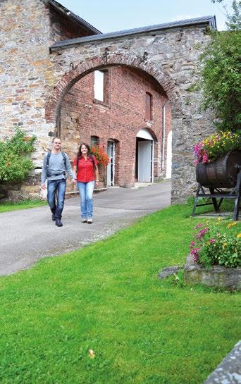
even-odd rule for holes
{"type": "Polygon", "coordinates": [[[144,71],[159,83],[159,85],[166,92],[168,99],[172,106],[176,107],[178,88],[175,86],[175,81],[171,80],[161,70],[152,66],[151,63],[144,61],[143,57],[126,56],[121,54],[111,54],[108,59],[102,57],[89,58],[79,63],[75,68],[63,75],[63,78],[58,82],[54,91],[47,101],[45,108],[45,118],[47,122],[57,125],[59,112],[61,109],[62,101],[68,90],[75,85],[78,80],[84,78],[94,70],[113,66],[126,66],[144,71]]]}

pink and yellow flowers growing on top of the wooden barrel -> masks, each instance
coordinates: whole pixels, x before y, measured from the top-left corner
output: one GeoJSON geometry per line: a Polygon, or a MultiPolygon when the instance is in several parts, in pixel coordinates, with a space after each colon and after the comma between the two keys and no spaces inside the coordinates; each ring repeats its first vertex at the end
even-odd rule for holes
{"type": "Polygon", "coordinates": [[[235,149],[241,150],[241,130],[235,133],[229,130],[218,132],[194,145],[194,164],[210,163],[235,149]]]}

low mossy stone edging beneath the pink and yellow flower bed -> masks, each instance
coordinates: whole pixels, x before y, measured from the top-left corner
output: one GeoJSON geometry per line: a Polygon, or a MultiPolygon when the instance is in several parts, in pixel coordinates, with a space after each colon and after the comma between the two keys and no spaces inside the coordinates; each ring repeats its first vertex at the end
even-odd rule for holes
{"type": "Polygon", "coordinates": [[[209,287],[241,290],[241,268],[213,266],[210,269],[206,269],[195,264],[192,261],[192,256],[189,254],[184,267],[184,280],[186,283],[201,283],[209,287]]]}

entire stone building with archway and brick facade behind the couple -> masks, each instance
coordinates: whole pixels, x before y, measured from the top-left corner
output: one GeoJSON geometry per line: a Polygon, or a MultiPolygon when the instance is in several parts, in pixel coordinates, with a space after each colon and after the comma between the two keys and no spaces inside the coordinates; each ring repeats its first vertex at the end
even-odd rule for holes
{"type": "Polygon", "coordinates": [[[170,175],[173,132],[172,201],[185,200],[192,146],[211,128],[202,92],[189,89],[215,17],[101,34],[54,0],[1,0],[0,23],[0,138],[16,126],[37,136],[35,170],[8,197],[39,192],[53,135],[70,159],[82,141],[103,146],[108,184],[128,187],[170,175]]]}

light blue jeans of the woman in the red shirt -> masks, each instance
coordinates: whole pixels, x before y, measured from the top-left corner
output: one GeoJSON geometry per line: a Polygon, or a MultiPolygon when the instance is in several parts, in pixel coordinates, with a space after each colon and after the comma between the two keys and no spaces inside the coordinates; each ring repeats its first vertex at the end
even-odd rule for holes
{"type": "Polygon", "coordinates": [[[80,192],[80,211],[82,218],[92,218],[93,216],[93,190],[94,181],[80,182],[78,181],[78,190],[80,192]]]}

